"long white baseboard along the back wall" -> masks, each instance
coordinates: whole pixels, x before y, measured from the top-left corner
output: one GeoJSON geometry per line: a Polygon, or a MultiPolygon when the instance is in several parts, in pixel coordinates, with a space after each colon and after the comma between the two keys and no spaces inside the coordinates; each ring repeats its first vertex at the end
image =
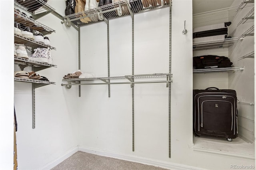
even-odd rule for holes
{"type": "Polygon", "coordinates": [[[97,150],[93,148],[85,148],[81,146],[78,146],[78,151],[86,152],[90,154],[96,154],[100,156],[106,156],[110,158],[137,162],[137,163],[146,164],[146,165],[157,166],[157,167],[166,168],[170,170],[200,170],[199,168],[195,168],[192,166],[184,166],[182,164],[173,164],[170,162],[163,162],[160,160],[153,160],[153,159],[142,158],[142,157],[133,156],[133,155],[120,154],[120,153],[110,152],[105,150],[97,150]]]}

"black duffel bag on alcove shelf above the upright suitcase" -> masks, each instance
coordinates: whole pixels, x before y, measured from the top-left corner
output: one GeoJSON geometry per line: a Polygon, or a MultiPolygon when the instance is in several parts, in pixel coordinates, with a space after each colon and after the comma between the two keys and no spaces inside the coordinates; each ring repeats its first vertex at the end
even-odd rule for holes
{"type": "Polygon", "coordinates": [[[211,69],[231,67],[233,63],[228,57],[218,55],[202,55],[193,57],[193,69],[211,69]]]}

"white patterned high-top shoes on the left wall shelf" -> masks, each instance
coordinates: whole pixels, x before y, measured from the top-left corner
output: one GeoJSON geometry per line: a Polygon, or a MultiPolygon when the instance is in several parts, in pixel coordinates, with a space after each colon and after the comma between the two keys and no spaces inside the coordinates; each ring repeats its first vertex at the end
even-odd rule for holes
{"type": "Polygon", "coordinates": [[[32,61],[52,64],[52,55],[49,48],[36,48],[34,53],[29,56],[32,61]]]}

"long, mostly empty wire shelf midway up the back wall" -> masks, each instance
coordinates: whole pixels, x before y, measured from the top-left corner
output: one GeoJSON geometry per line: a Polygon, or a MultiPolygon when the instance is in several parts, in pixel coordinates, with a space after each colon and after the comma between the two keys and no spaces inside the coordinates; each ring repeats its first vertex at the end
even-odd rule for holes
{"type": "Polygon", "coordinates": [[[169,83],[171,80],[172,74],[170,73],[155,73],[155,74],[142,74],[142,75],[125,75],[125,76],[116,76],[116,77],[94,77],[94,78],[76,78],[76,79],[62,79],[62,81],[68,81],[69,84],[63,85],[71,85],[71,83],[75,83],[72,85],[97,85],[97,84],[130,84],[130,83],[169,83]],[[162,78],[162,79],[161,79],[162,78]],[[165,80],[163,80],[163,78],[165,80]],[[150,80],[150,81],[134,81],[134,79],[161,79],[161,80],[150,80]],[[110,80],[128,80],[128,81],[120,81],[120,82],[111,82],[110,80]],[[85,81],[85,83],[80,83],[81,81],[85,81]],[[88,82],[86,82],[88,81],[88,82]],[[91,81],[103,81],[104,83],[97,83],[91,81]]]}

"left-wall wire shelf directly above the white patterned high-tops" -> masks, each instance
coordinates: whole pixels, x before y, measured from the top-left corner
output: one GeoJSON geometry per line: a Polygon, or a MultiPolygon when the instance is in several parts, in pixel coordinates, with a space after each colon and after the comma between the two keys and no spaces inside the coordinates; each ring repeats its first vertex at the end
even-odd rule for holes
{"type": "Polygon", "coordinates": [[[50,49],[56,50],[55,47],[52,47],[50,45],[46,45],[46,44],[44,44],[42,42],[36,42],[33,39],[31,39],[31,38],[20,36],[20,35],[15,34],[15,33],[14,33],[14,43],[16,43],[16,44],[24,44],[26,46],[34,47],[34,48],[40,47],[40,48],[50,48],[50,49]]]}

